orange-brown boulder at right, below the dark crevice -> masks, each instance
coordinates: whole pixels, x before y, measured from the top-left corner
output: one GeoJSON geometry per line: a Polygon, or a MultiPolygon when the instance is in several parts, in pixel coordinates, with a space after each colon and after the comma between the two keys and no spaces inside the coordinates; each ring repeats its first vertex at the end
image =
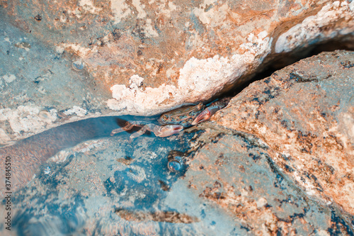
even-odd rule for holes
{"type": "Polygon", "coordinates": [[[212,117],[218,125],[264,142],[264,155],[309,198],[351,215],[353,62],[354,53],[346,51],[301,60],[250,84],[212,117]]]}

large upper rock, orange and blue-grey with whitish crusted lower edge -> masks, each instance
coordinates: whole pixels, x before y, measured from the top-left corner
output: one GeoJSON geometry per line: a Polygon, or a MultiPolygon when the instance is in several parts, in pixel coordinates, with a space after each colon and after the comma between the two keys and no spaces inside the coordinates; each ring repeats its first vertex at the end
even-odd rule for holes
{"type": "Polygon", "coordinates": [[[206,101],[285,52],[353,42],[353,1],[0,4],[2,144],[82,118],[206,101]]]}

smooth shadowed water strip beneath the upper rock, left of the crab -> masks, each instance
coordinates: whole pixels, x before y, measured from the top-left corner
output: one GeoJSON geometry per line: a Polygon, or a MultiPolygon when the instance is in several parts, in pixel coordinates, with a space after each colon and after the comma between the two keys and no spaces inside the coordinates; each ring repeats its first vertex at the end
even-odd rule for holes
{"type": "MultiPolygon", "coordinates": [[[[140,117],[110,116],[80,120],[46,130],[38,135],[18,141],[15,145],[0,148],[1,157],[11,157],[12,177],[15,181],[13,188],[24,186],[38,170],[38,167],[60,150],[74,147],[85,140],[108,137],[113,129],[124,126],[127,120],[134,118],[139,119],[140,117]]],[[[130,132],[135,132],[137,129],[134,128],[130,132]]],[[[2,169],[5,168],[4,164],[5,162],[0,163],[2,169]]],[[[1,179],[4,179],[4,175],[1,176],[1,179]]],[[[3,183],[4,181],[0,185],[2,190],[4,190],[3,183]]]]}

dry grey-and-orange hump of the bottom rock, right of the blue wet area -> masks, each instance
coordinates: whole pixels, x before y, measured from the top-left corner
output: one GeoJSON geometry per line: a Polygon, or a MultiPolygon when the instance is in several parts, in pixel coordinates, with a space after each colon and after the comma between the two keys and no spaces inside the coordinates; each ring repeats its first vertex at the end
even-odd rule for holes
{"type": "Polygon", "coordinates": [[[343,219],[341,213],[308,198],[288,179],[267,148],[252,144],[249,137],[219,135],[198,151],[180,181],[232,217],[229,235],[311,235],[348,227],[334,220],[343,219]]]}

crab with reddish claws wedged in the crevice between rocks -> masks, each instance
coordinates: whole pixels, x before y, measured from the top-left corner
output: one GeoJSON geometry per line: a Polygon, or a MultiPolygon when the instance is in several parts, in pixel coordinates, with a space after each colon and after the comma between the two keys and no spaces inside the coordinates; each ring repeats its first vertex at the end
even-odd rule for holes
{"type": "Polygon", "coordinates": [[[157,120],[159,125],[155,125],[154,123],[144,120],[127,121],[127,125],[122,128],[112,130],[110,135],[113,136],[116,133],[121,133],[137,126],[141,127],[141,129],[130,135],[130,142],[133,138],[143,135],[147,132],[147,130],[154,133],[157,137],[168,137],[181,132],[184,128],[188,128],[190,126],[197,125],[202,121],[209,120],[210,117],[217,111],[227,106],[229,100],[230,98],[220,99],[219,101],[210,103],[209,106],[199,103],[198,105],[177,108],[175,110],[163,113],[159,120],[157,120]]]}

